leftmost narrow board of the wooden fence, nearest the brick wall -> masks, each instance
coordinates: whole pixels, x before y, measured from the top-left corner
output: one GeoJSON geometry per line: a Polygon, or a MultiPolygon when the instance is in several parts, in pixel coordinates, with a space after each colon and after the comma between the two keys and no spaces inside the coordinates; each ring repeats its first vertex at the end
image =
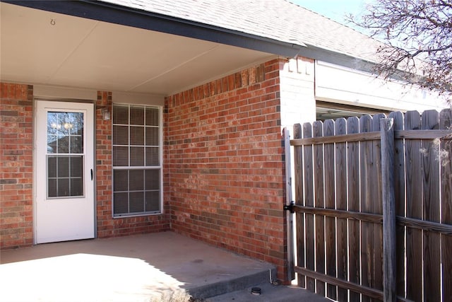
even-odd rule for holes
{"type": "MultiPolygon", "coordinates": [[[[302,125],[294,124],[294,138],[301,139],[303,137],[302,125]]],[[[294,149],[294,167],[295,167],[295,204],[304,205],[304,175],[303,175],[303,149],[294,149]]],[[[295,249],[297,252],[297,265],[304,267],[304,216],[299,214],[295,216],[296,226],[296,244],[295,249]]],[[[306,277],[302,274],[298,274],[298,285],[306,287],[306,277]]]]}

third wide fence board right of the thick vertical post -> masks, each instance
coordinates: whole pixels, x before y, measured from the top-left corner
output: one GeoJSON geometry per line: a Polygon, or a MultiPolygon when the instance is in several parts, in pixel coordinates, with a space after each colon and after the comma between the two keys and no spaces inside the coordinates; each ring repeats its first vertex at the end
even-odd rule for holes
{"type": "MultiPolygon", "coordinates": [[[[438,129],[439,113],[427,110],[422,114],[422,129],[438,129]]],[[[422,193],[424,220],[439,222],[439,144],[423,140],[422,148],[422,193]]],[[[441,301],[441,248],[439,233],[424,231],[424,298],[441,301]]]]}

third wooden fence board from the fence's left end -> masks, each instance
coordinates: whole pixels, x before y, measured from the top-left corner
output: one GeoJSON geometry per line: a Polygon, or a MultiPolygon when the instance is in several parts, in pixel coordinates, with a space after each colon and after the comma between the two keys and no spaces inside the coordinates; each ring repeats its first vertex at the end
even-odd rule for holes
{"type": "MultiPolygon", "coordinates": [[[[313,137],[323,137],[323,123],[314,122],[313,137]]],[[[325,208],[323,190],[323,146],[314,145],[314,187],[315,207],[325,208]]],[[[316,225],[316,272],[325,273],[325,218],[322,215],[314,216],[316,225]]],[[[325,282],[316,281],[316,293],[325,296],[325,282]]]]}

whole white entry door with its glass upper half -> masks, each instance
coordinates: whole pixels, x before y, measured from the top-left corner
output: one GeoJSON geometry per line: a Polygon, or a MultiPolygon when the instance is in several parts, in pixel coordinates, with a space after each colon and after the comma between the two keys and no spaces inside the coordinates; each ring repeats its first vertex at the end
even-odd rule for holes
{"type": "Polygon", "coordinates": [[[95,236],[93,108],[37,101],[35,243],[95,236]]]}

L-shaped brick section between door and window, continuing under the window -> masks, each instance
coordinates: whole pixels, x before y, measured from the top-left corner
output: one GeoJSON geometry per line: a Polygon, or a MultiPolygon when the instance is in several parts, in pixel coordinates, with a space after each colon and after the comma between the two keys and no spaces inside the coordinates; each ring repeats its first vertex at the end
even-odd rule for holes
{"type": "MultiPolygon", "coordinates": [[[[97,107],[112,112],[111,92],[97,92],[97,107]]],[[[112,218],[112,120],[96,110],[97,236],[128,236],[169,230],[169,214],[112,218]]],[[[166,211],[168,213],[168,211],[166,211]]]]}

